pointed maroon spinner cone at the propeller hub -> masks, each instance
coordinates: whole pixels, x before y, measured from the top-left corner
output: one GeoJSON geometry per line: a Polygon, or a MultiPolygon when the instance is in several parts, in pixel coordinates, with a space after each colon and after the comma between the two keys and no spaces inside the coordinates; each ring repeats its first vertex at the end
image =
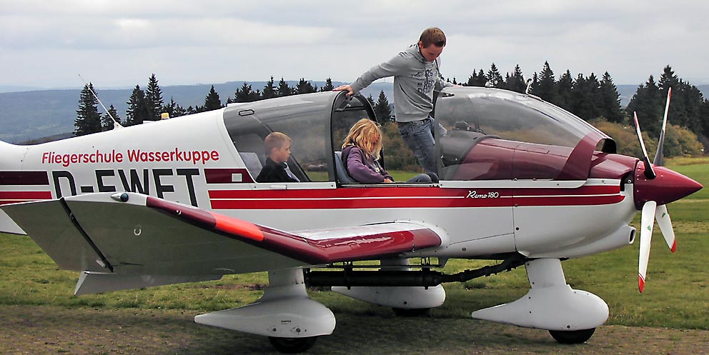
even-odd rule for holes
{"type": "Polygon", "coordinates": [[[702,184],[663,166],[655,166],[655,179],[645,177],[645,166],[635,166],[635,208],[640,211],[647,201],[658,206],[669,204],[702,189],[702,184]]]}

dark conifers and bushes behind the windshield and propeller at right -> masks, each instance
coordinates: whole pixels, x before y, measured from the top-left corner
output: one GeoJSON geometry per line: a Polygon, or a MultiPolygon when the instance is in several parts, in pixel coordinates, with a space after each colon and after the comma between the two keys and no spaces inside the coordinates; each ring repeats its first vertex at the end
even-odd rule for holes
{"type": "MultiPolygon", "coordinates": [[[[520,66],[515,66],[515,69],[503,78],[497,66],[492,64],[487,72],[483,69],[473,71],[465,83],[456,83],[455,78],[452,82],[467,86],[492,86],[517,92],[525,92],[527,89],[527,80],[520,66]]],[[[645,84],[638,86],[625,109],[620,106],[618,88],[608,71],[600,80],[593,73],[588,76],[572,76],[569,70],[559,79],[555,79],[554,71],[549,63],[545,62],[542,71],[532,75],[529,89],[530,94],[540,96],[586,121],[594,121],[597,125],[606,126],[603,121],[608,121],[629,130],[633,124],[633,112],[637,112],[643,131],[648,132],[648,136],[655,137],[650,138],[650,143],[653,143],[652,140],[656,141],[662,128],[665,100],[670,87],[672,100],[668,121],[673,125],[671,134],[678,136],[676,142],[682,145],[674,151],[678,154],[698,153],[701,147],[695,144],[696,142],[702,141],[705,146],[709,146],[709,100],[703,98],[696,86],[679,79],[669,65],[663,69],[658,82],[650,75],[645,84]],[[691,141],[694,143],[690,143],[691,141]]],[[[606,127],[613,131],[618,130],[617,127],[606,127]]],[[[618,137],[614,138],[618,140],[618,137]]],[[[648,141],[647,138],[645,140],[648,141]]],[[[670,148],[668,154],[673,154],[673,149],[670,148]]]]}

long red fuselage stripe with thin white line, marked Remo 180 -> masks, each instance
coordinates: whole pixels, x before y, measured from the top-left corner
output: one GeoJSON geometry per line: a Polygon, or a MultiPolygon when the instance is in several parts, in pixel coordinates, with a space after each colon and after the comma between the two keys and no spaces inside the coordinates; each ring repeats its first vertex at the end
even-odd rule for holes
{"type": "Polygon", "coordinates": [[[211,190],[212,209],[378,209],[616,204],[620,186],[577,189],[440,189],[437,187],[309,190],[211,190]]]}

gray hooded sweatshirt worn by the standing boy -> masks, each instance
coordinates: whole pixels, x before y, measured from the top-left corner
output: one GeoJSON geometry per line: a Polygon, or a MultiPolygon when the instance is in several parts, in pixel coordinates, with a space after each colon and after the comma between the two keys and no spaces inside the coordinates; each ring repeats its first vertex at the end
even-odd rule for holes
{"type": "Polygon", "coordinates": [[[410,46],[389,61],[362,74],[350,84],[355,94],[377,79],[394,76],[394,110],[397,122],[426,119],[433,110],[433,91],[452,84],[442,80],[440,58],[426,61],[418,44],[410,46]]]}

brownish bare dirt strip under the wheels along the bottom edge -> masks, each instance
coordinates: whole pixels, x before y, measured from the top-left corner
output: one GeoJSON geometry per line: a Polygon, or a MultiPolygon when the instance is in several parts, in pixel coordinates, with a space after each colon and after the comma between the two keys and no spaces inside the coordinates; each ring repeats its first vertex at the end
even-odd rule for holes
{"type": "MultiPolygon", "coordinates": [[[[274,354],[266,338],[195,324],[194,311],[0,306],[0,354],[274,354]]],[[[336,314],[309,354],[709,354],[709,331],[603,326],[586,343],[474,319],[336,314]]]]}

